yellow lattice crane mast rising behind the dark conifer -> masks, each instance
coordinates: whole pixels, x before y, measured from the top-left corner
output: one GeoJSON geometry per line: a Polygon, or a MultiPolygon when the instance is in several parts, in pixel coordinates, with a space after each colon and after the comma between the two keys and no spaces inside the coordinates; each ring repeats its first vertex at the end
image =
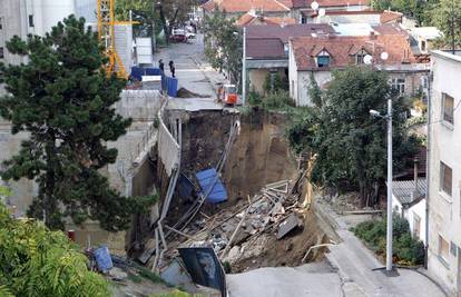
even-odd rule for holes
{"type": "Polygon", "coordinates": [[[127,71],[115,47],[115,26],[127,24],[115,20],[115,0],[98,0],[98,37],[106,47],[106,56],[109,63],[106,66],[108,73],[116,72],[118,77],[128,78],[127,71]]]}

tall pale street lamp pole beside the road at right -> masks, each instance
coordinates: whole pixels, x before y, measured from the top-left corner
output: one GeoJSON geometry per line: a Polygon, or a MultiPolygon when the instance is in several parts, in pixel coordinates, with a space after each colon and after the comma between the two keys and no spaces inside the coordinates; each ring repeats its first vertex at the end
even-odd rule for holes
{"type": "Polygon", "coordinates": [[[388,120],[388,235],[385,270],[392,271],[392,99],[388,99],[388,115],[383,116],[379,111],[371,109],[372,117],[388,120]]]}

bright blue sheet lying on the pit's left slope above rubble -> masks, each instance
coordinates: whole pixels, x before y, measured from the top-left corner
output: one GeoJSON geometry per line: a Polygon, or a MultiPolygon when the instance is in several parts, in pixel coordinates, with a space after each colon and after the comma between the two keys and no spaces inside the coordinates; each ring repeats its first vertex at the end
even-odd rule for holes
{"type": "Polygon", "coordinates": [[[219,204],[227,200],[226,188],[224,188],[224,185],[220,181],[215,168],[199,171],[195,174],[195,176],[197,177],[198,185],[200,185],[203,195],[206,195],[209,191],[209,187],[212,187],[213,182],[215,182],[206,199],[208,202],[219,204]]]}

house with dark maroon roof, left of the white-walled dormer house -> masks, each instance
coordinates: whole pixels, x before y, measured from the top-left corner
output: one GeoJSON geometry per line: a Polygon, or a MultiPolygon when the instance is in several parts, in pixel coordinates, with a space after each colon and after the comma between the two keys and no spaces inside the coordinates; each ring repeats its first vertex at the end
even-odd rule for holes
{"type": "Polygon", "coordinates": [[[292,37],[334,33],[325,23],[246,27],[248,90],[264,92],[267,76],[288,77],[288,42],[292,37]]]}

